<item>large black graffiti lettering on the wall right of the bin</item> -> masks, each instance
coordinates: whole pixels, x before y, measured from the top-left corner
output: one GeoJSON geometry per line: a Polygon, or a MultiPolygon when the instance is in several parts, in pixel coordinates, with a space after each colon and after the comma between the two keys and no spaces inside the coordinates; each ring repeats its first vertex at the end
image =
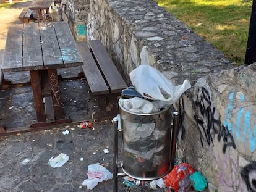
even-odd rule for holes
{"type": "MultiPolygon", "coordinates": [[[[228,146],[236,149],[233,136],[228,127],[221,125],[220,114],[216,110],[215,105],[211,102],[209,91],[204,88],[198,88],[197,96],[194,101],[198,114],[194,115],[200,130],[201,136],[207,141],[208,145],[213,146],[213,139],[217,136],[218,141],[223,140],[223,153],[226,152],[228,146]]],[[[203,141],[201,139],[203,146],[203,141]]]]}

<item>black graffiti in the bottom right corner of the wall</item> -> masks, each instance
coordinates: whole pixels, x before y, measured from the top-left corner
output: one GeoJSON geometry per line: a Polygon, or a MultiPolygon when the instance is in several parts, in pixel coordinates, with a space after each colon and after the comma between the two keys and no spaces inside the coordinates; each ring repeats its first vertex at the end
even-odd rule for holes
{"type": "Polygon", "coordinates": [[[241,170],[241,177],[247,185],[249,192],[256,192],[256,162],[246,165],[241,170]]]}

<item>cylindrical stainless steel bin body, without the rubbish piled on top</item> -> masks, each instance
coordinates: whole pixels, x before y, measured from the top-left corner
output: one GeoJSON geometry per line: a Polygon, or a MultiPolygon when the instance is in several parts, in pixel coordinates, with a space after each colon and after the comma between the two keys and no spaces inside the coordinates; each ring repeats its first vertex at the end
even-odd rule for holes
{"type": "Polygon", "coordinates": [[[122,170],[138,180],[155,180],[171,170],[171,108],[151,114],[127,111],[119,99],[122,170]]]}

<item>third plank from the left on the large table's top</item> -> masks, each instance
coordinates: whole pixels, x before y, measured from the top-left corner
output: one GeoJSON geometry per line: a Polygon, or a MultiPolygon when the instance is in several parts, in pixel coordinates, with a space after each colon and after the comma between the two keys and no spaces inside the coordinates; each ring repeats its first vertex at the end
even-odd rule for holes
{"type": "Polygon", "coordinates": [[[43,51],[43,61],[47,68],[62,68],[61,51],[59,50],[59,43],[56,38],[53,25],[40,23],[41,45],[43,51]]]}

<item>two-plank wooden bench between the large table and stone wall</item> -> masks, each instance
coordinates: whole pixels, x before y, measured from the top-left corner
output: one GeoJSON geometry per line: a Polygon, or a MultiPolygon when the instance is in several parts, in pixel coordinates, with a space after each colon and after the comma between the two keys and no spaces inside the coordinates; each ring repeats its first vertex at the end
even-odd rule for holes
{"type": "Polygon", "coordinates": [[[114,117],[119,113],[118,99],[127,84],[109,57],[100,40],[77,42],[83,59],[83,73],[90,93],[98,96],[100,111],[92,114],[92,119],[114,117]]]}

